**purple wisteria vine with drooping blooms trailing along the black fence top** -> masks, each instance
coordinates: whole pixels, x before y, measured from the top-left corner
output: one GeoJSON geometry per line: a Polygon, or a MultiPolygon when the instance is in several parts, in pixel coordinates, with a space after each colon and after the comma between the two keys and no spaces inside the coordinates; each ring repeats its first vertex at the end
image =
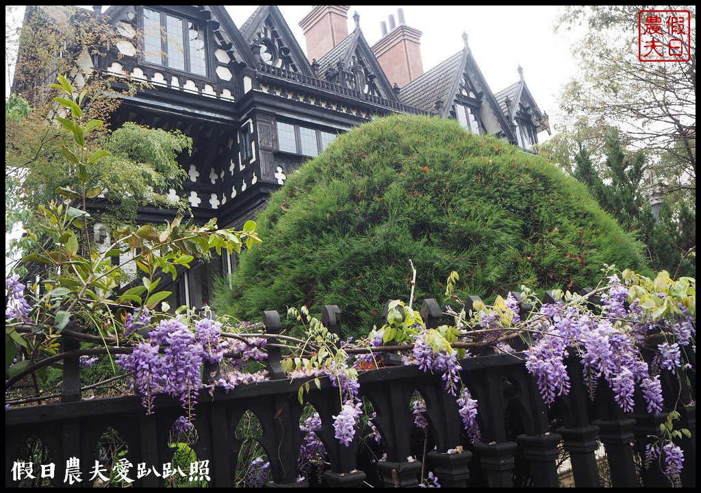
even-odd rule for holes
{"type": "MultiPolygon", "coordinates": [[[[457,276],[452,277],[456,280],[457,276]]],[[[6,288],[8,320],[24,320],[29,313],[29,304],[22,296],[24,286],[15,276],[6,281],[6,288]]],[[[463,305],[454,293],[449,294],[463,305]]],[[[301,313],[292,309],[290,313],[305,325],[308,338],[286,337],[284,341],[275,339],[274,344],[288,351],[283,359],[288,377],[293,381],[304,379],[299,386],[300,400],[304,391],[309,391],[310,379],[317,386],[320,379],[327,379],[336,387],[339,407],[332,416],[332,425],[334,437],[346,447],[355,440],[364,413],[359,372],[381,365],[385,346],[395,346],[392,351],[400,354],[402,364],[440,374],[444,390],[455,398],[473,443],[480,439],[478,403],[468,389],[470,382],[462,380],[462,370],[464,358],[474,357],[486,346],[515,353],[510,343],[525,339],[528,345],[517,357],[533,374],[547,405],[571,390],[567,362],[576,358],[592,397],[597,384],[605,382],[622,411],[632,412],[639,391],[651,414],[662,412],[664,405],[662,372],[678,376],[693,360],[689,356],[695,353],[695,280],[691,278],[672,281],[667,273],[660,273],[651,280],[623,271],[611,273],[587,295],[553,293],[550,302],[542,304],[528,290],[524,289],[522,295],[523,299],[498,297],[492,306],[472,303],[471,310],[459,312],[446,306],[454,324],[435,329],[426,327],[411,304],[393,302],[388,323],[374,327],[365,339],[355,342],[340,341],[306,308],[301,313]],[[521,309],[526,304],[534,308],[524,316],[521,309]],[[646,360],[642,348],[650,349],[651,344],[654,356],[646,360]]],[[[180,400],[186,414],[177,421],[176,431],[193,426],[193,405],[203,386],[214,395],[216,387],[229,392],[240,384],[269,378],[265,363],[270,337],[275,335],[259,333],[257,326],[247,323],[232,326],[226,320],[198,319],[190,312],[175,318],[159,314],[157,322],[152,322],[152,315],[143,308],[126,317],[123,335],[133,344],[133,351],[119,355],[117,361],[122,370],[133,372],[133,390],[142,395],[147,412],[154,409],[158,393],[180,400]],[[206,385],[203,381],[207,379],[201,374],[203,363],[218,365],[219,371],[206,385]]],[[[88,367],[96,361],[94,356],[84,356],[81,365],[88,367]]],[[[426,428],[426,403],[414,400],[412,407],[416,426],[426,428]]],[[[370,435],[381,443],[374,418],[373,413],[368,420],[370,435]]],[[[311,464],[325,461],[327,451],[316,434],[321,426],[318,414],[308,417],[301,426],[301,477],[308,477],[311,464]]],[[[683,452],[674,443],[671,426],[669,430],[648,447],[647,459],[660,459],[665,472],[674,478],[683,466],[683,452]]],[[[250,484],[263,484],[269,467],[256,459],[250,468],[250,484]]]]}

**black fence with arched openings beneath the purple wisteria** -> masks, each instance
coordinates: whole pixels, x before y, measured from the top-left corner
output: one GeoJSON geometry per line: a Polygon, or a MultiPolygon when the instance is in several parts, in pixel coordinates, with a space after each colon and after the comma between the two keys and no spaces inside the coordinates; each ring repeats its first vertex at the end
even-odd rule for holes
{"type": "MultiPolygon", "coordinates": [[[[422,312],[427,325],[435,323],[430,303],[425,302],[422,312]]],[[[264,320],[268,332],[276,333],[277,313],[266,312],[264,320]]],[[[207,486],[234,485],[244,443],[236,429],[249,411],[259,420],[260,435],[255,439],[271,464],[272,482],[268,486],[309,486],[308,480],[297,478],[297,459],[304,438],[299,424],[304,419],[304,406],[308,405],[320,415],[322,426],[316,433],[328,454],[322,478],[313,485],[412,487],[418,485],[422,472],[431,471],[442,487],[559,487],[559,471],[566,458],[577,487],[672,486],[659,461],[645,463],[645,447],[660,436],[660,424],[674,409],[679,396],[689,388],[695,393],[695,361],[682,379],[672,375],[662,378],[667,407],[665,412],[653,416],[645,411],[640,396],[635,412],[624,414],[606,384],[599,385],[592,400],[580,362],[574,357],[566,362],[571,391],[549,408],[540,397],[536,380],[526,371],[524,353],[488,352],[460,362],[461,378],[479,402],[481,441],[474,444],[465,434],[456,400],[444,391],[440,375],[401,365],[361,371],[360,397],[376,413],[372,422],[381,434],[382,444],[375,454],[367,454],[364,451],[368,445],[362,442],[360,433],[348,447],[334,438],[332,417],[341,408],[338,389],[322,379],[320,389],[312,385],[304,394],[302,405],[297,391],[305,380],[285,378],[280,368],[280,351],[273,349],[268,352],[266,363],[271,380],[243,384],[229,393],[216,389],[212,396],[202,393],[198,399],[197,439],[192,448],[198,461],[203,461],[201,465],[206,466],[207,486]],[[686,384],[680,385],[680,380],[686,380],[686,384]],[[418,444],[418,450],[411,410],[416,392],[426,401],[423,415],[428,421],[427,439],[418,444]],[[597,459],[602,445],[608,468],[606,462],[597,459]],[[382,452],[386,454],[384,460],[379,459],[382,452]]],[[[89,479],[95,475],[93,466],[100,463],[97,443],[108,428],[125,443],[123,459],[128,464],[154,466],[141,477],[137,477],[134,466],[130,475],[132,487],[166,485],[163,475],[156,473],[161,464],[173,461],[176,449],[170,433],[172,424],[182,414],[179,402],[158,396],[154,413],[147,415],[139,396],[76,400],[80,396],[78,370],[77,356],[64,362],[64,402],[6,410],[6,486],[20,485],[22,471],[18,461],[28,440],[41,440],[46,461],[55,464],[53,478],[47,479],[51,485],[68,486],[74,480],[73,487],[92,486],[89,479]],[[74,402],[66,402],[70,400],[74,402]]],[[[205,377],[216,370],[207,367],[205,377]]],[[[691,432],[690,438],[679,443],[685,466],[680,483],[693,487],[695,407],[677,411],[681,414],[680,426],[691,432]]],[[[39,459],[35,457],[34,461],[39,459]]],[[[37,477],[48,471],[37,468],[35,465],[32,470],[37,477]]],[[[25,479],[26,473],[25,470],[25,479]]]]}

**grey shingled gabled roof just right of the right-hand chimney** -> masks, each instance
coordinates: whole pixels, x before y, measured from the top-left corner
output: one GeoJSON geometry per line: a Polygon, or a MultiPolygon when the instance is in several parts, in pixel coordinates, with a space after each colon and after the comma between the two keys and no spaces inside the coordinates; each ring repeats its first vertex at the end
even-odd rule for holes
{"type": "Polygon", "coordinates": [[[494,93],[491,92],[489,84],[486,83],[482,71],[472,56],[472,50],[468,46],[466,34],[463,34],[463,39],[465,39],[465,47],[462,50],[423,75],[418,76],[414,81],[402,88],[400,93],[402,102],[435,114],[435,104],[440,99],[443,102],[443,106],[437,114],[441,118],[445,118],[449,116],[455,97],[458,94],[463,74],[470,74],[477,82],[479,90],[483,93],[483,102],[486,102],[487,106],[494,113],[506,138],[511,142],[516,142],[512,126],[505,119],[503,112],[500,111],[494,93]]]}

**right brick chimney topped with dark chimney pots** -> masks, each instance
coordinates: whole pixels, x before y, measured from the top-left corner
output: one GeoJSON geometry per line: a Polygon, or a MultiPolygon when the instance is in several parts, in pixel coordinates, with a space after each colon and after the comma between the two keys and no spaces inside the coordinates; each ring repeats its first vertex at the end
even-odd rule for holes
{"type": "Polygon", "coordinates": [[[407,26],[403,8],[397,11],[397,20],[399,25],[395,26],[394,15],[389,16],[390,32],[385,22],[380,23],[382,37],[374,44],[372,52],[390,83],[404,87],[423,74],[421,31],[407,26]]]}

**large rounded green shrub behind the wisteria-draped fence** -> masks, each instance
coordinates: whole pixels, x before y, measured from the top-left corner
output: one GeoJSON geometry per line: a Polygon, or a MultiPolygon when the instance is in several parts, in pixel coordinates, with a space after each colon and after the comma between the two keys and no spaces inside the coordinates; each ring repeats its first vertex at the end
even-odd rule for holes
{"type": "Polygon", "coordinates": [[[346,335],[381,324],[388,299],[442,300],[444,282],[485,301],[528,285],[596,285],[604,263],[646,271],[642,245],[585,186],[543,158],[456,122],[388,116],[339,135],[290,173],[257,217],[263,243],[240,256],[217,308],[338,305],[346,335]],[[226,302],[222,300],[226,298],[226,302]]]}

